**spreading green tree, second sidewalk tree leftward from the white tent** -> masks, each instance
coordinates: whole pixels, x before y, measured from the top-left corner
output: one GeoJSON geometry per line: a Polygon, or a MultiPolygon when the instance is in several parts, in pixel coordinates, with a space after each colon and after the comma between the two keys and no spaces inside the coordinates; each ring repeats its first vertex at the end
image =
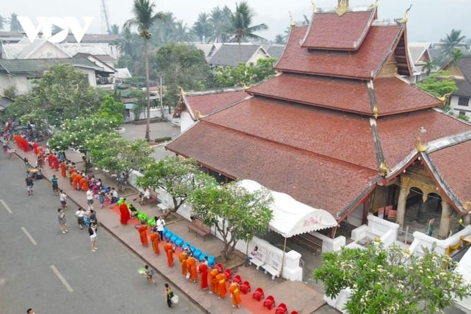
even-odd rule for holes
{"type": "Polygon", "coordinates": [[[194,159],[170,156],[151,164],[136,184],[141,188],[161,188],[172,196],[173,213],[184,204],[190,191],[202,186],[217,184],[213,177],[199,171],[194,159]]]}

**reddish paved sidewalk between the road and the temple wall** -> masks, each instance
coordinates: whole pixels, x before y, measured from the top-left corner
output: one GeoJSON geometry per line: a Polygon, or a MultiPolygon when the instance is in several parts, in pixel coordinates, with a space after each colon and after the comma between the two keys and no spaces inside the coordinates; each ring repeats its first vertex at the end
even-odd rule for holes
{"type": "MultiPolygon", "coordinates": [[[[16,146],[15,144],[11,144],[16,146]]],[[[35,155],[33,152],[24,152],[17,149],[17,155],[23,159],[28,157],[31,164],[35,164],[35,155]]],[[[78,169],[82,170],[82,155],[76,152],[67,152],[67,158],[72,162],[75,162],[78,165],[78,169]]],[[[46,163],[47,164],[47,163],[46,163]]],[[[69,178],[64,178],[60,175],[60,171],[53,171],[47,165],[44,166],[44,171],[42,171],[44,177],[47,180],[50,180],[52,175],[59,177],[59,188],[64,190],[68,195],[68,208],[69,211],[75,212],[76,208],[71,202],[75,202],[80,207],[87,208],[87,200],[85,192],[74,191],[72,186],[69,184],[69,178]]],[[[103,173],[97,173],[96,177],[100,177],[103,180],[105,186],[114,186],[116,187],[116,180],[113,180],[110,177],[103,175],[103,173]]],[[[44,182],[50,184],[48,182],[44,182]]],[[[52,192],[51,192],[52,193],[52,192]]],[[[38,197],[36,195],[35,197],[38,197]]],[[[139,205],[137,202],[134,202],[133,199],[136,198],[136,193],[131,195],[120,195],[127,198],[127,201],[130,201],[134,206],[139,209],[139,211],[145,212],[148,216],[159,216],[161,211],[155,203],[147,204],[144,206],[139,205]]],[[[59,199],[57,198],[57,207],[60,206],[59,199]]],[[[161,254],[156,255],[152,251],[151,247],[143,247],[139,241],[139,234],[134,228],[134,225],[139,223],[136,219],[130,220],[127,225],[121,225],[119,221],[118,213],[110,208],[100,209],[100,205],[96,202],[95,206],[96,214],[98,220],[105,229],[114,234],[122,243],[129,247],[136,254],[141,256],[146,263],[148,263],[152,268],[160,272],[167,281],[170,282],[170,285],[178,287],[181,292],[184,293],[187,297],[193,300],[195,304],[198,304],[206,313],[274,313],[274,309],[271,311],[263,307],[262,302],[256,302],[255,299],[251,297],[251,293],[247,295],[241,295],[242,297],[242,306],[241,308],[233,308],[231,295],[228,295],[224,299],[218,299],[216,295],[208,293],[208,290],[203,291],[199,288],[199,280],[197,284],[193,284],[191,281],[188,281],[181,274],[180,263],[178,261],[179,250],[174,254],[174,265],[170,268],[167,265],[167,259],[161,247],[161,254]]],[[[206,237],[206,241],[200,236],[197,236],[194,232],[188,230],[188,225],[190,222],[184,218],[181,218],[178,214],[174,214],[177,218],[167,223],[166,227],[170,229],[174,234],[179,234],[181,238],[184,238],[184,241],[190,241],[192,245],[201,249],[208,255],[219,256],[220,250],[222,249],[222,241],[215,238],[215,236],[206,237]]],[[[73,228],[73,222],[70,223],[69,228],[73,228]]],[[[78,227],[77,227],[78,228],[78,227]]],[[[98,240],[99,241],[99,240],[98,240]]],[[[100,250],[97,253],[90,254],[103,254],[104,250],[100,250]]],[[[273,295],[276,300],[276,305],[281,302],[287,305],[288,313],[291,311],[298,311],[299,313],[313,313],[319,308],[320,311],[316,313],[338,313],[332,308],[323,306],[326,302],[323,301],[323,294],[318,290],[315,290],[312,286],[308,286],[300,281],[285,281],[284,279],[275,279],[272,280],[268,274],[264,274],[262,270],[256,270],[254,266],[245,267],[244,265],[236,265],[231,268],[233,274],[239,274],[242,277],[242,281],[249,281],[251,284],[251,290],[254,291],[258,287],[262,287],[265,291],[265,296],[273,295]],[[332,311],[333,310],[333,311],[332,311]]],[[[163,283],[158,283],[159,286],[163,283]]],[[[177,292],[178,293],[178,292],[177,292]]],[[[177,307],[177,306],[176,306],[177,307]]]]}

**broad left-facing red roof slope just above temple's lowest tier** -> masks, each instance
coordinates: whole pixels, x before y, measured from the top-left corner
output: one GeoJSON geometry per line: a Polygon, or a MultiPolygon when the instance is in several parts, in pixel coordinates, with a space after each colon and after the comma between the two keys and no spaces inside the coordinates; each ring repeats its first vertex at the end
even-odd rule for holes
{"type": "Polygon", "coordinates": [[[316,155],[377,170],[370,121],[365,116],[254,97],[204,121],[316,155]]]}

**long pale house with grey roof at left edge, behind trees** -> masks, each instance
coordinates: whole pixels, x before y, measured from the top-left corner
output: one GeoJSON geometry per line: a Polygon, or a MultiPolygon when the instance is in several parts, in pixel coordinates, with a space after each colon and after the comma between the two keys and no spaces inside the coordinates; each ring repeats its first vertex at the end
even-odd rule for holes
{"type": "Polygon", "coordinates": [[[12,86],[18,94],[30,91],[34,80],[41,78],[44,72],[57,64],[68,63],[87,76],[90,86],[96,87],[96,73],[103,68],[87,58],[47,58],[47,59],[0,59],[0,90],[12,86]]]}

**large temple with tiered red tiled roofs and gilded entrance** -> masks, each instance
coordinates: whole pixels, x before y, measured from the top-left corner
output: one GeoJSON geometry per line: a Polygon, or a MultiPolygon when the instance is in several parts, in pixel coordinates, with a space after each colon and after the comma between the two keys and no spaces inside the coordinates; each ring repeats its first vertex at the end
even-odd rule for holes
{"type": "Polygon", "coordinates": [[[276,70],[166,148],[226,182],[254,180],[328,211],[339,225],[362,225],[368,213],[401,227],[436,218],[434,236],[446,238],[468,213],[471,125],[408,82],[407,11],[380,21],[377,4],[314,8],[310,25],[292,25],[276,70]]]}

